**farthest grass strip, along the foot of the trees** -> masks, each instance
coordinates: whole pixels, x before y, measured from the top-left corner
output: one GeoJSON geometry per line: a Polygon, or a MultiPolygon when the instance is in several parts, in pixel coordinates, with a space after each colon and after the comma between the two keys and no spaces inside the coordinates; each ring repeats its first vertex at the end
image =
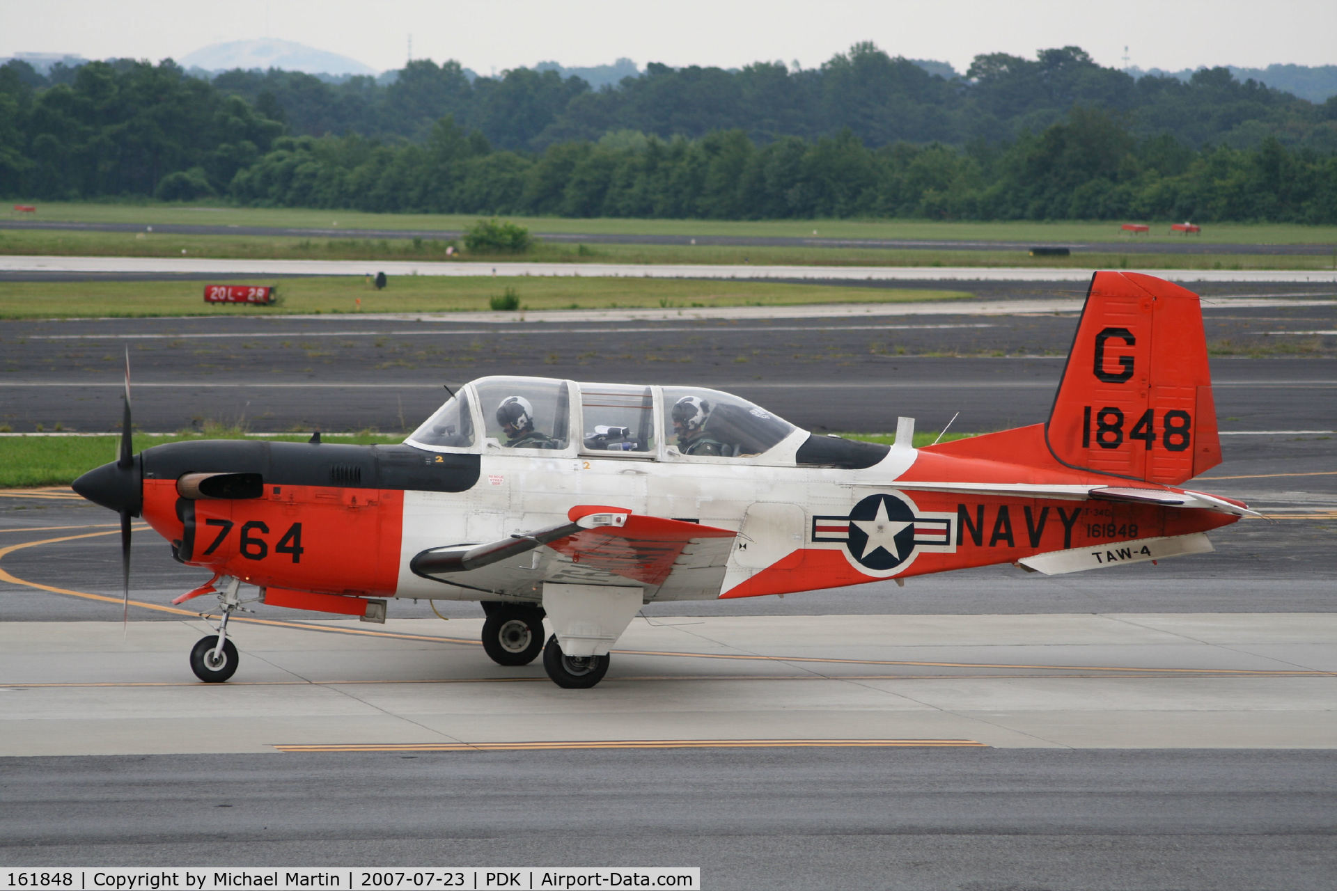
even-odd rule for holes
{"type": "MultiPolygon", "coordinates": [[[[62,220],[84,223],[193,224],[193,226],[274,226],[303,228],[384,228],[459,231],[477,215],[440,214],[364,214],[348,210],[214,207],[179,203],[64,203],[39,202],[36,214],[17,214],[9,207],[31,203],[20,198],[3,204],[9,219],[62,220]]],[[[564,219],[554,216],[512,216],[512,222],[532,232],[591,232],[644,235],[733,235],[774,238],[909,238],[929,240],[1007,240],[1007,242],[1108,242],[1130,238],[1119,230],[1120,222],[1151,224],[1151,235],[1139,239],[1183,240],[1171,235],[1170,223],[1182,220],[1060,220],[959,223],[910,219],[822,219],[822,220],[698,220],[698,219],[564,219]]],[[[1211,223],[1203,226],[1202,240],[1226,244],[1337,244],[1337,226],[1211,223]]]]}

